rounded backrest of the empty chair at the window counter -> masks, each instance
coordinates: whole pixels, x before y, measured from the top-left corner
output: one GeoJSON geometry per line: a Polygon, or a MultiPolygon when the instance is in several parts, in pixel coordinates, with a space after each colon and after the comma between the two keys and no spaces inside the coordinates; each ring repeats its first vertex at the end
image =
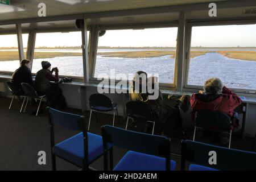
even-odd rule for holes
{"type": "Polygon", "coordinates": [[[109,97],[105,96],[104,94],[95,93],[90,95],[89,105],[91,109],[93,109],[93,107],[96,106],[112,107],[112,101],[109,97]]]}

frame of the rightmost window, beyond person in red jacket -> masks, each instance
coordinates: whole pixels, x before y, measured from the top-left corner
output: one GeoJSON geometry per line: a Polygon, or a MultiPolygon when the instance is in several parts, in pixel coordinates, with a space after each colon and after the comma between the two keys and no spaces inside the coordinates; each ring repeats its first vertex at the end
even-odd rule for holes
{"type": "MultiPolygon", "coordinates": [[[[203,89],[203,86],[200,85],[188,85],[188,73],[189,73],[189,64],[190,64],[190,51],[191,51],[191,39],[192,39],[192,27],[200,26],[224,26],[224,25],[247,25],[247,24],[256,24],[255,19],[241,19],[241,20],[214,20],[214,21],[198,21],[198,22],[188,22],[187,24],[187,38],[185,39],[185,56],[184,56],[184,85],[183,90],[185,92],[198,92],[203,89]]],[[[243,93],[243,94],[253,94],[256,95],[256,89],[236,89],[230,88],[233,92],[243,93]]]]}

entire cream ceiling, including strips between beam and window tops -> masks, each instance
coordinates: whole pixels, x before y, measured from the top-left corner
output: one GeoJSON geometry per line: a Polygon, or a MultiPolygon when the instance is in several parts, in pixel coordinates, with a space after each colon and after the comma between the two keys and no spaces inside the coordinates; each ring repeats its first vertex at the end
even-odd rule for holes
{"type": "MultiPolygon", "coordinates": [[[[61,15],[78,15],[85,13],[98,13],[101,11],[114,11],[114,10],[125,10],[125,9],[141,9],[148,7],[162,7],[162,6],[176,6],[190,5],[193,3],[205,3],[212,2],[212,0],[77,0],[84,1],[85,3],[79,5],[68,5],[55,0],[10,0],[11,5],[26,9],[26,11],[17,11],[13,13],[0,13],[0,24],[2,21],[13,20],[11,25],[0,25],[0,34],[15,32],[16,20],[27,19],[27,18],[38,18],[38,3],[46,3],[47,18],[51,16],[61,15]]],[[[72,0],[71,0],[72,1],[72,0]]],[[[222,2],[223,0],[214,1],[222,2]]],[[[249,1],[249,0],[248,0],[249,1]]],[[[226,2],[234,2],[228,1],[226,2]]],[[[237,1],[236,1],[237,2],[237,1]]],[[[246,2],[243,0],[241,2],[246,2]]],[[[248,7],[225,7],[217,9],[217,18],[256,18],[256,14],[243,14],[245,9],[256,9],[255,6],[248,7]]],[[[197,7],[197,5],[196,5],[197,7]]],[[[1,12],[1,6],[0,6],[1,12]]],[[[208,7],[205,10],[189,10],[185,11],[186,19],[214,19],[208,16],[208,7]]],[[[24,31],[30,29],[37,30],[55,30],[59,28],[73,29],[75,28],[75,20],[58,20],[58,21],[36,21],[31,23],[23,23],[22,28],[24,31]]],[[[179,20],[178,12],[170,13],[152,13],[152,14],[141,14],[141,15],[120,15],[120,16],[100,16],[98,18],[88,18],[89,25],[120,25],[120,24],[142,24],[142,23],[161,23],[161,22],[174,22],[179,20]]],[[[39,19],[40,21],[40,19],[39,19]]]]}

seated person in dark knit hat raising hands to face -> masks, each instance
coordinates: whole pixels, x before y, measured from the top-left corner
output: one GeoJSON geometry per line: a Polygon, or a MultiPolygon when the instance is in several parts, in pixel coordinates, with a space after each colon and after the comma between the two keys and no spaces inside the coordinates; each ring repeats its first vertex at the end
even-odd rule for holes
{"type": "Polygon", "coordinates": [[[48,97],[49,105],[55,109],[64,109],[67,105],[62,90],[57,84],[51,84],[50,81],[59,81],[59,70],[56,68],[51,69],[51,63],[42,61],[42,68],[36,73],[35,87],[36,91],[40,94],[46,94],[48,97]],[[52,73],[55,72],[55,75],[52,73]]]}

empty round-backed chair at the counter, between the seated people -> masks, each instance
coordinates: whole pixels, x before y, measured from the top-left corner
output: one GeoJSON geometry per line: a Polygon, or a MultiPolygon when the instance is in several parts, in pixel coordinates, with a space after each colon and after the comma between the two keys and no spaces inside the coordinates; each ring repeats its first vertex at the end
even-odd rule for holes
{"type": "MultiPolygon", "coordinates": [[[[114,126],[115,112],[117,113],[117,118],[118,118],[117,104],[112,102],[109,97],[105,96],[104,94],[100,94],[100,93],[92,94],[89,97],[89,105],[90,105],[90,118],[89,118],[88,131],[90,130],[90,120],[92,118],[92,111],[96,111],[96,112],[97,111],[99,111],[99,112],[113,111],[112,126],[114,126]]],[[[96,115],[96,117],[97,117],[97,115],[96,115]]]]}

